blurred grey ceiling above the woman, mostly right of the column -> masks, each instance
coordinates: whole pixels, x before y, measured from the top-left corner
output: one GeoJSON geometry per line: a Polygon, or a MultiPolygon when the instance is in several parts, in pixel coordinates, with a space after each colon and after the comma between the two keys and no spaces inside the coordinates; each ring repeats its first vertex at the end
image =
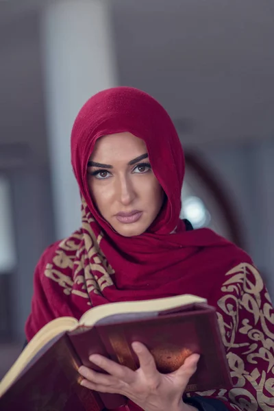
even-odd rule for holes
{"type": "MultiPolygon", "coordinates": [[[[46,1],[0,1],[0,47],[46,1]]],[[[273,0],[110,4],[120,84],[159,99],[186,144],[274,137],[273,0]]]]}

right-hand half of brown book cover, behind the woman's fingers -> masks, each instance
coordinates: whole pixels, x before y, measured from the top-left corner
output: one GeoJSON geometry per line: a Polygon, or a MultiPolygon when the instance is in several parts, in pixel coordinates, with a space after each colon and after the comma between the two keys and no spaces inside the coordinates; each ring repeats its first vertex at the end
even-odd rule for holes
{"type": "Polygon", "coordinates": [[[192,304],[166,310],[157,317],[148,314],[134,321],[126,321],[125,318],[119,321],[119,316],[116,316],[115,323],[101,323],[86,332],[82,329],[81,334],[77,330],[70,333],[69,338],[84,365],[101,371],[88,360],[91,354],[101,353],[135,370],[138,358],[131,344],[139,341],[151,351],[161,373],[175,371],[191,353],[201,355],[197,372],[186,388],[188,392],[232,386],[214,308],[192,304]],[[93,344],[95,339],[97,343],[93,344]],[[92,344],[89,343],[91,340],[92,344]]]}

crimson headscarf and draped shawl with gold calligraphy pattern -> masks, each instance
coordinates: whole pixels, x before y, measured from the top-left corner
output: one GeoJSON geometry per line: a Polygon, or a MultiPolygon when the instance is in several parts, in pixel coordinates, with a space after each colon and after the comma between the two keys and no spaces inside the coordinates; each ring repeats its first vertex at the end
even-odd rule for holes
{"type": "Polygon", "coordinates": [[[269,295],[244,251],[210,229],[189,232],[179,219],[184,154],[164,108],[134,88],[99,92],[75,120],[71,160],[82,196],[82,226],[48,247],[36,266],[28,340],[52,319],[79,319],[100,304],[199,295],[217,308],[234,388],[195,395],[221,399],[232,410],[274,409],[269,295]],[[147,232],[131,238],[103,219],[87,182],[88,159],[97,139],[119,132],[145,141],[166,197],[147,232]]]}

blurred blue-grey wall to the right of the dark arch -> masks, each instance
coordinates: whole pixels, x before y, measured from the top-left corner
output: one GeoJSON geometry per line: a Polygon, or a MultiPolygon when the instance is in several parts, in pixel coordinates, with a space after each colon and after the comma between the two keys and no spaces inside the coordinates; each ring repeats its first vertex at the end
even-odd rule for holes
{"type": "Polygon", "coordinates": [[[225,188],[238,217],[243,248],[274,299],[274,138],[188,149],[198,153],[225,188]]]}

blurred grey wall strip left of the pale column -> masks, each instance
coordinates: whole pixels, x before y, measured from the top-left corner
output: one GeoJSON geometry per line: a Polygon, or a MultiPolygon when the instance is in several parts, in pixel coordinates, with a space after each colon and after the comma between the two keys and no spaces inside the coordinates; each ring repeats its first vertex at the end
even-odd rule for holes
{"type": "Polygon", "coordinates": [[[21,343],[34,268],[55,240],[39,32],[35,10],[0,25],[0,169],[9,176],[12,190],[17,264],[11,321],[14,338],[21,343]]]}

